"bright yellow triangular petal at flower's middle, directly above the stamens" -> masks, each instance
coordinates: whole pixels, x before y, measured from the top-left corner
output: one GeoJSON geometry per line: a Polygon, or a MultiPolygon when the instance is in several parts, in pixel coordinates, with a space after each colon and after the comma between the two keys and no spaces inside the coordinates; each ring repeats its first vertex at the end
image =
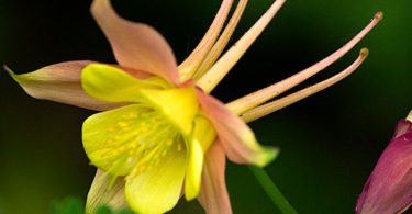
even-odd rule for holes
{"type": "Polygon", "coordinates": [[[142,89],[141,94],[183,134],[189,135],[199,103],[193,87],[142,89]]]}

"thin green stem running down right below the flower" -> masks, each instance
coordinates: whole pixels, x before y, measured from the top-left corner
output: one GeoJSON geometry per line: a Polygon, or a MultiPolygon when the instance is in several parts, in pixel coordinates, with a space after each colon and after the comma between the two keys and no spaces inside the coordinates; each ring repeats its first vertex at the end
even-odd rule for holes
{"type": "Polygon", "coordinates": [[[279,191],[278,187],[271,181],[270,177],[261,168],[250,166],[253,174],[259,181],[266,194],[270,198],[274,204],[283,214],[298,214],[293,206],[285,199],[283,194],[279,191]]]}

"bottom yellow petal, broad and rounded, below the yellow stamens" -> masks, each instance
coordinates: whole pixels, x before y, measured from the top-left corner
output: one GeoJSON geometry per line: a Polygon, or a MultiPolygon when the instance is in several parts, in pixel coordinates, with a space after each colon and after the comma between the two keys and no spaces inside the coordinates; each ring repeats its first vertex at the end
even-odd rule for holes
{"type": "Polygon", "coordinates": [[[172,147],[156,167],[126,179],[125,198],[136,213],[159,214],[178,202],[186,171],[186,149],[172,147]]]}

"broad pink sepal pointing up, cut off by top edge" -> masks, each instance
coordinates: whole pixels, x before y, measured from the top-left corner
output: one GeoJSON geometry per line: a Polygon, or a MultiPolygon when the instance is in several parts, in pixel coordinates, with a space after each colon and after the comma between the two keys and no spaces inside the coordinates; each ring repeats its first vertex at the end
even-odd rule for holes
{"type": "Polygon", "coordinates": [[[108,37],[121,66],[145,70],[178,85],[175,55],[156,30],[120,18],[109,0],[94,0],[91,13],[108,37]]]}

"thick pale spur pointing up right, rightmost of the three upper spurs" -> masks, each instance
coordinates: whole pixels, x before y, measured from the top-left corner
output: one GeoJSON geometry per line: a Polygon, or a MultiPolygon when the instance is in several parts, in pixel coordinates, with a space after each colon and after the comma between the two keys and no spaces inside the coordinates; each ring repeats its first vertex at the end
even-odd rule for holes
{"type": "Polygon", "coordinates": [[[211,92],[237,60],[245,54],[257,36],[264,31],[270,20],[279,11],[285,0],[276,0],[268,11],[233,45],[210,70],[197,82],[205,92],[211,92]]]}

